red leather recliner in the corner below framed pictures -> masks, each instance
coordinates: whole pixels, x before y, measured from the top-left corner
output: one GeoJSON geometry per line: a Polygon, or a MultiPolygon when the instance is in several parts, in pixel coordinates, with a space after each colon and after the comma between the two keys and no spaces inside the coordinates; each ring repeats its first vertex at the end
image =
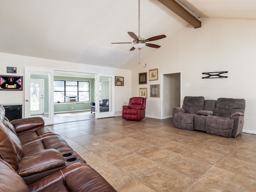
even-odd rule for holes
{"type": "Polygon", "coordinates": [[[127,120],[142,120],[145,117],[146,98],[132,97],[128,106],[123,106],[122,118],[127,120]]]}

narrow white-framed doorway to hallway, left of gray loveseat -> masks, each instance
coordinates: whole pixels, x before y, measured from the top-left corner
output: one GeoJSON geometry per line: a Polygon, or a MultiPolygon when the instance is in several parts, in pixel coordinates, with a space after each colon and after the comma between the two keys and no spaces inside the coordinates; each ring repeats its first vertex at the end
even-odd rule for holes
{"type": "Polygon", "coordinates": [[[182,101],[182,72],[161,74],[161,119],[172,117],[172,108],[180,107],[182,101]]]}

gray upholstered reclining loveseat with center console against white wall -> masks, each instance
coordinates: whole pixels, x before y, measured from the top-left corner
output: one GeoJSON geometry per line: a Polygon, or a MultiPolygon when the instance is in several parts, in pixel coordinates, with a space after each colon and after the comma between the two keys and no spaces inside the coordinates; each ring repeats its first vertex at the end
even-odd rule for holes
{"type": "Polygon", "coordinates": [[[236,137],[243,130],[244,109],[244,99],[204,100],[203,96],[186,96],[182,108],[172,109],[172,118],[177,128],[236,137]]]}

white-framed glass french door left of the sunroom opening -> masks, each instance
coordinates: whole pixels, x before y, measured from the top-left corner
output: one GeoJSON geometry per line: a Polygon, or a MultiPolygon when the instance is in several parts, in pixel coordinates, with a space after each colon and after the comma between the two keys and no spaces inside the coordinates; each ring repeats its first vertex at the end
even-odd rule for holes
{"type": "Polygon", "coordinates": [[[46,125],[54,123],[53,74],[52,69],[25,66],[25,118],[41,116],[46,125]]]}

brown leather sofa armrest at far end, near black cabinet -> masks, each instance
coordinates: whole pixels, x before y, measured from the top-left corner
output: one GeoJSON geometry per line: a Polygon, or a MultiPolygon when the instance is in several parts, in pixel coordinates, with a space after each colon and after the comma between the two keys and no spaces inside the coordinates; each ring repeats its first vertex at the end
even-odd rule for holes
{"type": "Polygon", "coordinates": [[[43,126],[44,119],[42,117],[29,117],[23,119],[15,119],[12,120],[10,123],[14,126],[16,132],[21,132],[30,128],[43,126]]]}

